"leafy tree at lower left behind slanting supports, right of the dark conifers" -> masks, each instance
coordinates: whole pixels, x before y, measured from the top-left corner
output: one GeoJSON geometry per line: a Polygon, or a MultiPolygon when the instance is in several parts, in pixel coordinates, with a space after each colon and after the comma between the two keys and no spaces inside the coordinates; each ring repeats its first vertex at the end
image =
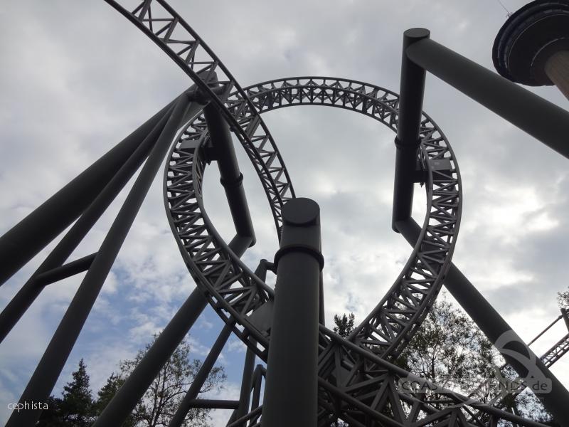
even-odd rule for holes
{"type": "MultiPolygon", "coordinates": [[[[156,340],[156,337],[155,335],[154,340],[156,340]]],[[[107,379],[107,384],[99,392],[97,413],[100,413],[105,408],[125,379],[137,367],[144,354],[151,347],[151,344],[147,344],[144,350],[140,350],[134,359],[119,363],[119,374],[112,374],[107,379]]],[[[132,416],[128,421],[131,424],[125,423],[124,426],[168,426],[169,421],[174,416],[182,399],[184,399],[186,391],[188,391],[200,368],[201,361],[190,359],[190,344],[184,340],[166,364],[164,364],[164,367],[152,381],[139,404],[134,408],[132,416]]],[[[214,367],[201,387],[200,394],[220,389],[225,378],[223,367],[214,367]]],[[[186,425],[195,427],[209,426],[208,421],[211,420],[211,417],[208,414],[210,411],[208,408],[191,408],[186,416],[186,425]]]]}

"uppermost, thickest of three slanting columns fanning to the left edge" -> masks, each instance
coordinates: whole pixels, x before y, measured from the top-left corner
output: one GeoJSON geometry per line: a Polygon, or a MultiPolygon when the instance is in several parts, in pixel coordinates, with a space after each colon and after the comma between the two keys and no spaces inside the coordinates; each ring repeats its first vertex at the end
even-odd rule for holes
{"type": "Polygon", "coordinates": [[[0,237],[0,285],[75,221],[158,124],[174,101],[0,237]]]}

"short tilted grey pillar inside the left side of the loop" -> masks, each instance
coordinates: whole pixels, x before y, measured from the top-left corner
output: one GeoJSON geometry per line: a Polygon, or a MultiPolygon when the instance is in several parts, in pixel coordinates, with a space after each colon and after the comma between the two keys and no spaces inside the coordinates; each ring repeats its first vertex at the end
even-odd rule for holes
{"type": "Polygon", "coordinates": [[[240,237],[250,237],[250,246],[253,246],[255,231],[253,231],[251,214],[243,189],[243,174],[239,170],[229,125],[212,102],[206,105],[203,114],[206,116],[211,144],[221,176],[220,182],[225,189],[235,231],[240,237]]]}

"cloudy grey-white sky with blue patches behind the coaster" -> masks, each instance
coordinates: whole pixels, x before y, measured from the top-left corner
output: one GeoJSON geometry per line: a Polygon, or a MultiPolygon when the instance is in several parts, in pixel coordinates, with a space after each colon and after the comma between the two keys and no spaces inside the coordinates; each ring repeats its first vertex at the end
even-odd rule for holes
{"type": "MultiPolygon", "coordinates": [[[[136,2],[134,2],[136,3],[136,2]]],[[[504,0],[510,11],[525,1],[504,0]]],[[[491,46],[506,20],[497,0],[480,1],[171,1],[242,86],[297,75],[361,80],[398,92],[403,31],[422,26],[454,51],[492,67],[491,46]]],[[[4,1],[0,6],[0,233],[191,85],[188,77],[104,1],[4,1]]],[[[533,89],[567,109],[555,88],[533,89]]],[[[569,253],[568,163],[500,117],[427,74],[424,110],[452,144],[464,202],[454,263],[523,339],[559,315],[569,253]]],[[[411,248],[390,229],[393,133],[368,117],[324,107],[263,115],[297,196],[321,206],[326,258],[326,320],[376,305],[411,248]]],[[[257,245],[255,268],[277,239],[262,188],[243,150],[240,167],[257,245]]],[[[206,172],[208,214],[233,234],[214,167],[206,172]]],[[[425,196],[417,189],[415,219],[425,196]]],[[[119,196],[117,202],[124,199],[119,196]]],[[[115,203],[70,259],[95,252],[119,209],[115,203]]],[[[0,308],[48,249],[0,288],[0,308]]],[[[82,276],[48,286],[0,345],[0,422],[18,401],[82,276]]],[[[54,393],[83,357],[96,392],[161,330],[194,284],[171,236],[161,172],[80,334],[54,393]]],[[[191,330],[203,358],[221,328],[212,310],[191,330]]],[[[541,354],[567,331],[559,323],[533,349],[541,354]]],[[[235,339],[220,364],[222,396],[238,396],[243,347],[235,339]]],[[[569,358],[553,367],[569,384],[569,358]]],[[[215,414],[225,425],[227,412],[215,414]]]]}

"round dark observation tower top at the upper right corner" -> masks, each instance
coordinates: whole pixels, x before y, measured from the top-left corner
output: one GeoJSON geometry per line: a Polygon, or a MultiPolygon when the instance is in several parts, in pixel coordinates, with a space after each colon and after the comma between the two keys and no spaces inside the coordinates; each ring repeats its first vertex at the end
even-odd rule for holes
{"type": "Polygon", "coordinates": [[[492,60],[502,77],[555,85],[569,99],[569,1],[532,1],[509,16],[494,40],[492,60]]]}

